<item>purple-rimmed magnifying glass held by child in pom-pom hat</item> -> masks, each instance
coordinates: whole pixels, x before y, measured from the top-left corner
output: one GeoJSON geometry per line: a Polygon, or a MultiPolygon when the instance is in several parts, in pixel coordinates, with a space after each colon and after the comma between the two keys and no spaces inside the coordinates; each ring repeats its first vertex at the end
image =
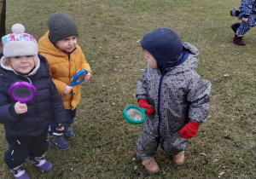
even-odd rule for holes
{"type": "Polygon", "coordinates": [[[34,85],[27,82],[16,82],[9,88],[9,95],[16,101],[24,104],[26,101],[31,101],[36,95],[34,85]]]}

